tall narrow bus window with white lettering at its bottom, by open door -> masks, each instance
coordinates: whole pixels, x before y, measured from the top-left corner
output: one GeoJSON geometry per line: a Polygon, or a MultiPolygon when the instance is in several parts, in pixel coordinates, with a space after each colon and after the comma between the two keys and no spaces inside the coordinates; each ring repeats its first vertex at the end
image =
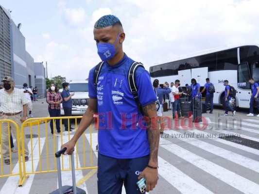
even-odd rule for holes
{"type": "Polygon", "coordinates": [[[242,89],[249,89],[249,78],[250,72],[248,63],[246,62],[238,65],[238,87],[242,89]]]}

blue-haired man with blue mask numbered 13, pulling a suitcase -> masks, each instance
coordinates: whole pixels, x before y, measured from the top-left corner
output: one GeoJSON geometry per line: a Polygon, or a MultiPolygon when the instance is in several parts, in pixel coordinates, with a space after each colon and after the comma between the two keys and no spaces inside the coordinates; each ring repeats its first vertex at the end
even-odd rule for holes
{"type": "Polygon", "coordinates": [[[121,21],[116,16],[102,16],[93,33],[104,65],[96,87],[95,67],[90,70],[89,106],[73,138],[62,148],[67,147],[65,154],[72,153],[98,109],[98,194],[121,194],[123,184],[127,194],[139,194],[136,182],[140,178],[145,178],[149,192],[157,183],[159,146],[157,98],[150,75],[142,67],[135,72],[141,112],[129,89],[128,72],[134,61],[122,49],[125,33],[121,21]]]}

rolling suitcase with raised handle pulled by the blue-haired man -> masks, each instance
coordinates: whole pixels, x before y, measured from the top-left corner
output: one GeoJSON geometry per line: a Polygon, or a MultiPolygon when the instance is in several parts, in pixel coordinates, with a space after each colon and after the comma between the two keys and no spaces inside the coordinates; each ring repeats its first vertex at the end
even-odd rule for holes
{"type": "Polygon", "coordinates": [[[50,194],[86,194],[83,189],[80,189],[75,186],[75,162],[74,162],[74,154],[71,155],[71,171],[72,171],[72,183],[73,186],[65,185],[62,186],[62,179],[61,179],[61,165],[60,165],[60,156],[66,151],[66,147],[57,151],[55,153],[55,157],[57,159],[57,173],[58,173],[58,189],[53,191],[50,194]],[[76,191],[76,192],[74,192],[76,191]]]}

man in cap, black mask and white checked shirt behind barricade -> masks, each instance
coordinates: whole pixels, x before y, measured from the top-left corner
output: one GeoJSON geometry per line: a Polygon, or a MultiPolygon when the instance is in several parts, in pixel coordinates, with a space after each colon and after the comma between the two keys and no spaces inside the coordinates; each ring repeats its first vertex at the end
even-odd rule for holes
{"type": "MultiPolygon", "coordinates": [[[[19,130],[21,124],[26,120],[27,116],[27,98],[24,93],[15,88],[14,79],[10,76],[5,76],[3,79],[3,87],[4,89],[0,90],[0,119],[10,119],[17,123],[19,130]],[[23,116],[21,116],[21,112],[23,111],[23,116]]],[[[10,128],[13,136],[17,140],[17,131],[16,127],[10,123],[10,128]]],[[[20,131],[19,131],[20,132],[20,131]]],[[[3,122],[1,128],[1,139],[2,139],[2,156],[4,159],[4,163],[10,164],[10,153],[9,153],[9,138],[8,138],[8,123],[3,122]]],[[[17,142],[17,141],[16,141],[17,142]]],[[[21,146],[20,139],[20,147],[21,146]]],[[[26,141],[24,140],[24,152],[25,162],[29,160],[29,149],[26,141]]]]}

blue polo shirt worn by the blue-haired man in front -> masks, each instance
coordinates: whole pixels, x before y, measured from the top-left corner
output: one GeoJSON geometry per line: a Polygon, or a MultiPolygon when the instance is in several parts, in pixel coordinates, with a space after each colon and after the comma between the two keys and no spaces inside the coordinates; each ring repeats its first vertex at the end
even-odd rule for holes
{"type": "MultiPolygon", "coordinates": [[[[145,122],[128,83],[128,71],[134,61],[124,54],[116,65],[104,63],[94,87],[92,68],[89,72],[89,97],[97,99],[99,114],[99,152],[117,159],[149,155],[145,122]]],[[[136,71],[138,99],[142,107],[156,101],[149,73],[142,67],[136,71]]]]}

